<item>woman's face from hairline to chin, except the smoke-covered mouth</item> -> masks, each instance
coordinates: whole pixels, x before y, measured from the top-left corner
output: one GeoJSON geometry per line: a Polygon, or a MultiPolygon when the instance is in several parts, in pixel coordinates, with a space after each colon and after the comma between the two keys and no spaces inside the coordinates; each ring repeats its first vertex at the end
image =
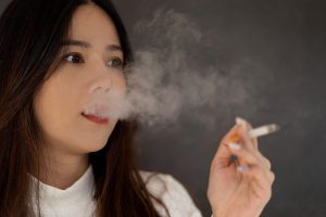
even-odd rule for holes
{"type": "Polygon", "coordinates": [[[113,22],[93,3],[74,13],[70,40],[59,67],[37,92],[34,110],[46,148],[85,154],[102,149],[117,122],[98,124],[82,113],[96,91],[125,92],[123,53],[113,22]]]}

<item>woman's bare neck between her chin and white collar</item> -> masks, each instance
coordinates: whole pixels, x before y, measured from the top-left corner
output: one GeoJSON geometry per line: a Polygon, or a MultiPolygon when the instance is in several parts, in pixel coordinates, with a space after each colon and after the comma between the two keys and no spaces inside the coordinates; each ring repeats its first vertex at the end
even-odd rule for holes
{"type": "Polygon", "coordinates": [[[51,187],[67,189],[73,186],[89,166],[88,155],[49,153],[48,161],[42,164],[38,179],[51,187]]]}

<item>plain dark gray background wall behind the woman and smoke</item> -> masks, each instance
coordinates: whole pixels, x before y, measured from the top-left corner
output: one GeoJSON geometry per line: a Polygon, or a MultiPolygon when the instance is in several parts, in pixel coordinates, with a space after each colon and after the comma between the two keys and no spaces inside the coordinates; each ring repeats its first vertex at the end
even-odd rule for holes
{"type": "MultiPolygon", "coordinates": [[[[7,2],[1,0],[1,9],[7,2]]],[[[243,116],[254,126],[277,123],[283,127],[278,133],[260,139],[260,149],[276,174],[273,199],[263,216],[326,216],[326,1],[114,2],[135,49],[141,37],[134,34],[135,24],[165,7],[186,14],[209,35],[211,46],[221,52],[212,61],[221,63],[226,76],[243,60],[260,65],[252,74],[250,68],[243,69],[243,82],[255,84],[250,99],[236,107],[216,108],[215,126],[208,129],[184,118],[174,124],[176,130],[142,128],[139,151],[143,168],[174,175],[209,216],[210,163],[235,116],[243,116]],[[262,68],[265,71],[259,74],[262,68]]]]}

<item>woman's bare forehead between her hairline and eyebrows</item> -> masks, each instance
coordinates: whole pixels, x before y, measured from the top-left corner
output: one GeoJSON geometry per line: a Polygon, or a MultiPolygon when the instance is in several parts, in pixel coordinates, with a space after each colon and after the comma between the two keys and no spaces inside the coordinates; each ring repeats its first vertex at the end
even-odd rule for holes
{"type": "Polygon", "coordinates": [[[76,9],[71,22],[70,38],[120,44],[113,21],[95,3],[87,3],[76,9]]]}

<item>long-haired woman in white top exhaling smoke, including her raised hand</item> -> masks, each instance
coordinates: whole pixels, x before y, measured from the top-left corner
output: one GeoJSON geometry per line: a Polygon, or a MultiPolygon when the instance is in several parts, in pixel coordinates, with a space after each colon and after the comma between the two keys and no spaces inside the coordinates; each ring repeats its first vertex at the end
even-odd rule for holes
{"type": "MultiPolygon", "coordinates": [[[[93,92],[125,92],[131,61],[108,0],[11,2],[0,20],[0,216],[201,216],[171,176],[138,170],[135,122],[86,112],[93,92]]],[[[249,129],[237,118],[212,162],[214,217],[256,217],[271,197],[271,164],[249,129]]]]}

